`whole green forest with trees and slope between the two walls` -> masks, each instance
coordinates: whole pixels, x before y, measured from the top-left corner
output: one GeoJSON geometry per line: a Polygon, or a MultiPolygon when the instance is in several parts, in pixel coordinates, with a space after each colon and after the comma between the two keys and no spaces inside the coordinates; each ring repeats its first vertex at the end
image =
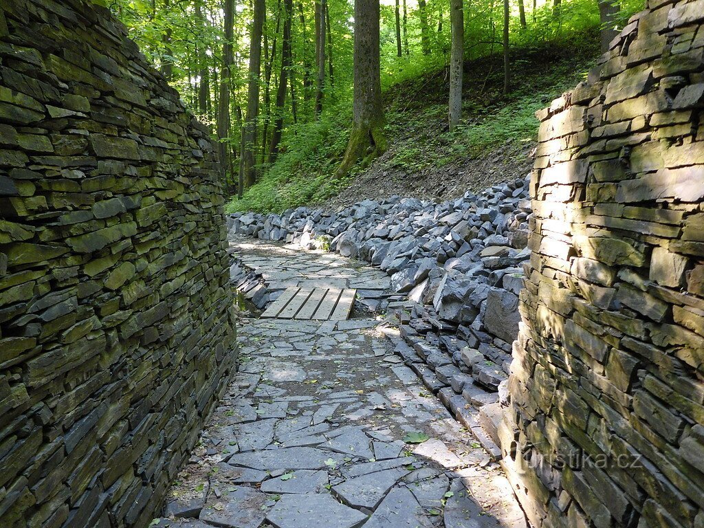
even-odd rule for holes
{"type": "Polygon", "coordinates": [[[229,210],[258,212],[324,201],[379,156],[413,178],[530,144],[643,4],[96,1],[212,130],[229,210]]]}

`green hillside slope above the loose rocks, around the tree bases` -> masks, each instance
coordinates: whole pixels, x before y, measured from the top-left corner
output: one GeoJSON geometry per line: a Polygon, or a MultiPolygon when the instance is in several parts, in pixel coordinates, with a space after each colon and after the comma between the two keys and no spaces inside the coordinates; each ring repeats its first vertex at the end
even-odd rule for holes
{"type": "Polygon", "coordinates": [[[374,175],[364,179],[367,196],[378,196],[376,189],[369,188],[377,173],[380,177],[389,172],[427,174],[470,159],[481,161],[493,156],[498,146],[509,153],[520,149],[534,140],[538,126],[535,111],[582,80],[598,54],[593,44],[584,44],[592,42],[596,42],[593,35],[584,35],[570,46],[547,44],[515,50],[513,91],[508,96],[501,93],[500,56],[465,63],[464,119],[453,133],[446,126],[447,68],[390,87],[384,93],[389,151],[370,167],[357,166],[348,178],[336,181],[330,175],[344,152],[351,120],[348,103],[341,103],[320,122],[289,130],[284,154],[243,199],[233,200],[228,210],[280,212],[322,203],[353,185],[363,172],[374,175]]]}

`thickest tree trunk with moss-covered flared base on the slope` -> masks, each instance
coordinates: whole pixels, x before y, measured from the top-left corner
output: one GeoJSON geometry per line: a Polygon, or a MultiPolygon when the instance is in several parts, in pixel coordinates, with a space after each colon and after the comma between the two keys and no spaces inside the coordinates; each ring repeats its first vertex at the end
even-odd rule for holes
{"type": "Polygon", "coordinates": [[[385,150],[379,0],[355,0],[353,122],[347,149],[334,177],[344,177],[358,160],[369,163],[385,150]]]}

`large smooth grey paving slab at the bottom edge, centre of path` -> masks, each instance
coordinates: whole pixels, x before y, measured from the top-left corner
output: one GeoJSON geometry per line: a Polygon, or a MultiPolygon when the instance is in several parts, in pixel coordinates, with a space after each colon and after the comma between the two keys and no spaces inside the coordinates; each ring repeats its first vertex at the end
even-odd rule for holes
{"type": "Polygon", "coordinates": [[[266,520],[276,528],[357,528],[367,516],[323,493],[285,495],[266,520]]]}

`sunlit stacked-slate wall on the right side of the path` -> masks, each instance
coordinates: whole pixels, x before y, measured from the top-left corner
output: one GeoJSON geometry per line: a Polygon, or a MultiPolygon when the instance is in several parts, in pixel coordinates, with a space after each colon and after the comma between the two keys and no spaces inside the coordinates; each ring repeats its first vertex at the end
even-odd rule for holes
{"type": "Polygon", "coordinates": [[[537,115],[503,463],[534,527],[704,526],[704,0],[537,115]]]}

